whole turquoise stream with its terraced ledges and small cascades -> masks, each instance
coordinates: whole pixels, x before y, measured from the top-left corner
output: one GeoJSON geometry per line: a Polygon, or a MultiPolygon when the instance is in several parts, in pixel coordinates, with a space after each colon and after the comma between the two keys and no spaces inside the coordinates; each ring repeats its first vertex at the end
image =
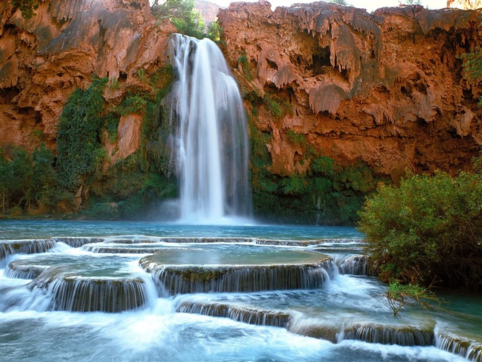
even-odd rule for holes
{"type": "Polygon", "coordinates": [[[482,359],[482,298],[445,293],[443,310],[410,305],[394,318],[353,228],[0,230],[2,361],[482,359]]]}

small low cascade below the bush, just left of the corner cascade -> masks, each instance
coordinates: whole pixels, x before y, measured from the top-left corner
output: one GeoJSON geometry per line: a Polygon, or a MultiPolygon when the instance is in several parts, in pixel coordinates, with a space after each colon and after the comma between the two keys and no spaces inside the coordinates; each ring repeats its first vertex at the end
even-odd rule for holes
{"type": "Polygon", "coordinates": [[[433,345],[433,328],[420,329],[412,326],[356,324],[344,328],[339,340],[355,339],[368,343],[397,345],[433,345]]]}

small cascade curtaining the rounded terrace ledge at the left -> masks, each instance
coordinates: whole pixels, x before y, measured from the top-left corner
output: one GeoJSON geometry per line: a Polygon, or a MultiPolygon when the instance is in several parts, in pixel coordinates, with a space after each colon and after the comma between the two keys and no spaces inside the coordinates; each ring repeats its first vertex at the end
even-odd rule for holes
{"type": "Polygon", "coordinates": [[[123,312],[147,302],[143,279],[76,276],[61,267],[45,270],[30,287],[39,288],[50,297],[52,310],[123,312]]]}

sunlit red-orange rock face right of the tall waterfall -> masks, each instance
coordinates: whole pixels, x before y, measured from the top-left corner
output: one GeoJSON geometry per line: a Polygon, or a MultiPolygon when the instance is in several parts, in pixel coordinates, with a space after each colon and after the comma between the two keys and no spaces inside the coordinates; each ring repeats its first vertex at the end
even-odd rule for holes
{"type": "Polygon", "coordinates": [[[280,119],[255,105],[256,127],[271,136],[271,171],[309,167],[290,131],[339,163],[363,161],[393,179],[406,169],[468,168],[477,154],[482,88],[465,79],[459,56],[481,46],[480,12],[407,6],[369,14],[323,2],[272,11],[260,1],[233,3],[219,21],[244,92],[291,103],[280,119]]]}

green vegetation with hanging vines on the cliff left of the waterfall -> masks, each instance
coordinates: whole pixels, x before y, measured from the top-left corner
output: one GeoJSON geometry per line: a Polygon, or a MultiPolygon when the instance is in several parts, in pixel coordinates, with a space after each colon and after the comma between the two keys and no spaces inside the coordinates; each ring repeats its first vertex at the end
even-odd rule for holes
{"type": "Polygon", "coordinates": [[[126,93],[109,112],[103,98],[107,78],[94,77],[90,87],[75,90],[59,120],[56,159],[41,143],[40,130],[32,132],[33,141],[39,143],[32,152],[0,150],[1,214],[139,219],[145,218],[146,210],[157,201],[174,197],[176,181],[167,177],[169,157],[157,159],[150,151],[163,132],[158,104],[169,91],[173,74],[171,66],[150,77],[144,73],[149,91],[126,93]],[[103,143],[116,142],[119,121],[128,114],[144,116],[140,147],[113,163],[117,148],[106,154],[103,143]],[[78,191],[82,192],[80,210],[74,205],[78,191]]]}

